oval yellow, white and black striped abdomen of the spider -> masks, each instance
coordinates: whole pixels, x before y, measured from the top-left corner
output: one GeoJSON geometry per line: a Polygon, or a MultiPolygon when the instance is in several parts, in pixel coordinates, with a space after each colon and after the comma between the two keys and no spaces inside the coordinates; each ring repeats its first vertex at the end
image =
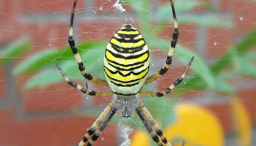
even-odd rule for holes
{"type": "Polygon", "coordinates": [[[149,72],[149,50],[143,36],[126,24],[112,37],[104,57],[104,71],[110,89],[131,96],[142,88],[149,72]]]}

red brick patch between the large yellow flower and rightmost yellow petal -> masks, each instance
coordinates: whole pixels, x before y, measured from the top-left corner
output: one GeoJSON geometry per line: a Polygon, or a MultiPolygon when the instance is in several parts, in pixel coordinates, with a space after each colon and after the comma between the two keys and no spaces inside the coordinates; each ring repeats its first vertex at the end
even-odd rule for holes
{"type": "Polygon", "coordinates": [[[232,105],[229,101],[223,103],[214,103],[205,106],[212,111],[215,116],[220,120],[225,133],[230,133],[233,131],[233,121],[232,121],[232,105]]]}

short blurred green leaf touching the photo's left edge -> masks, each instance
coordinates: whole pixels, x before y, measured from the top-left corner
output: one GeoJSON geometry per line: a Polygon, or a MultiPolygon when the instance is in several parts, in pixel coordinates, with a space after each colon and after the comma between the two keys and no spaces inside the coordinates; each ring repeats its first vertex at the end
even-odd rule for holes
{"type": "Polygon", "coordinates": [[[6,64],[7,62],[16,59],[27,52],[30,49],[30,40],[29,38],[20,38],[8,46],[1,49],[0,55],[0,67],[6,64]]]}

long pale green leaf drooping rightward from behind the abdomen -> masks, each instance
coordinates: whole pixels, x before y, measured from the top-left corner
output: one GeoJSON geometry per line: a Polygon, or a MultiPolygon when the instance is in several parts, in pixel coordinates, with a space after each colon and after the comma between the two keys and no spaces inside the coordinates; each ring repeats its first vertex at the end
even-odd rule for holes
{"type": "MultiPolygon", "coordinates": [[[[158,38],[149,38],[152,41],[148,42],[148,45],[150,47],[159,48],[162,50],[165,50],[166,53],[169,50],[169,45],[165,40],[160,40],[158,38]]],[[[176,49],[174,51],[174,57],[178,60],[182,61],[184,64],[187,65],[188,61],[190,61],[190,58],[194,56],[194,61],[191,65],[191,69],[196,73],[196,75],[190,75],[189,78],[185,78],[184,82],[187,82],[187,84],[183,84],[182,87],[178,86],[177,88],[188,88],[188,89],[211,89],[213,91],[218,92],[224,92],[227,94],[232,93],[233,87],[224,82],[224,80],[219,79],[219,77],[216,77],[215,75],[210,72],[210,69],[207,67],[207,64],[204,63],[204,60],[202,60],[201,57],[191,52],[191,50],[186,49],[185,47],[176,46],[176,49]]],[[[184,92],[185,90],[177,90],[177,94],[180,94],[180,92],[184,92]]],[[[187,90],[186,90],[187,91],[187,90]]]]}

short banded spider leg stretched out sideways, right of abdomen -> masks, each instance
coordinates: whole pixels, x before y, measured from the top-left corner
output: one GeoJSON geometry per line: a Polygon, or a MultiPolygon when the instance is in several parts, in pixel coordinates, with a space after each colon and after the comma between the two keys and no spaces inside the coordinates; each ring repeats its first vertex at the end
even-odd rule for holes
{"type": "Polygon", "coordinates": [[[191,58],[190,62],[188,63],[185,71],[183,72],[183,74],[177,78],[176,82],[172,83],[171,86],[169,86],[168,88],[165,89],[165,91],[157,91],[157,92],[151,92],[151,91],[140,91],[141,96],[153,96],[153,97],[162,97],[165,96],[166,94],[168,94],[171,90],[173,90],[174,88],[176,88],[177,85],[179,85],[183,78],[185,78],[188,69],[190,68],[191,63],[193,62],[194,57],[191,58]]]}

